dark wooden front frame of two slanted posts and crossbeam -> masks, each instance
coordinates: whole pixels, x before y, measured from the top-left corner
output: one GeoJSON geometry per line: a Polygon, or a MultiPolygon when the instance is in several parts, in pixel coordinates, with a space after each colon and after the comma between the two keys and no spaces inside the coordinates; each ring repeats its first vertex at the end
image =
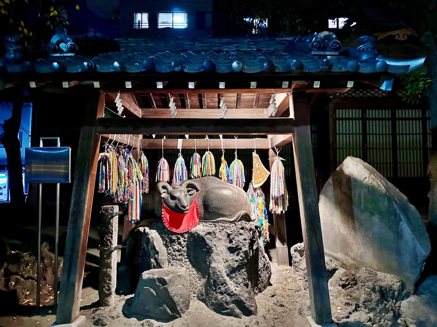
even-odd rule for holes
{"type": "MultiPolygon", "coordinates": [[[[103,118],[105,94],[102,91],[96,94],[95,101],[87,103],[86,114],[88,116],[80,130],[56,322],[58,324],[72,323],[79,316],[91,206],[102,134],[104,137],[108,137],[108,134],[269,136],[283,134],[275,137],[275,143],[276,146],[290,141],[293,143],[312,318],[317,324],[332,322],[312,157],[309,106],[305,89],[294,91],[290,96],[294,106],[294,119],[123,119],[103,118]]],[[[145,148],[150,140],[132,140],[132,145],[138,147],[139,142],[142,142],[142,147],[145,148]]],[[[252,143],[253,140],[250,142],[252,143]]],[[[271,149],[273,145],[269,144],[268,147],[271,149]]],[[[282,222],[282,225],[278,223],[277,226],[275,222],[275,229],[277,246],[283,251],[287,244],[285,221],[283,217],[275,220],[282,222]]],[[[285,250],[288,255],[288,248],[285,250]]]]}

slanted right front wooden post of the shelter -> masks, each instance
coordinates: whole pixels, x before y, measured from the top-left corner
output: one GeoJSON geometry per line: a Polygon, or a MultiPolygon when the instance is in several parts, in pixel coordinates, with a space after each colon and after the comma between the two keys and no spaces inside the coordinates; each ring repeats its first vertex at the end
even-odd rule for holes
{"type": "Polygon", "coordinates": [[[325,253],[322,228],[320,227],[319,198],[316,192],[316,177],[312,157],[309,106],[305,90],[293,92],[295,105],[295,134],[293,151],[299,209],[302,221],[305,261],[308,275],[311,316],[317,324],[332,322],[326,279],[325,253]]]}

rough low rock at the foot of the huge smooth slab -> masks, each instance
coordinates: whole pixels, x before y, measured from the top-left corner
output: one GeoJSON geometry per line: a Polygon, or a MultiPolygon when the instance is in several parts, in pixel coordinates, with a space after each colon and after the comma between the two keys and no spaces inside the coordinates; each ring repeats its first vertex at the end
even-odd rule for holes
{"type": "Polygon", "coordinates": [[[333,320],[339,326],[402,326],[400,301],[409,292],[398,276],[364,267],[340,268],[329,279],[328,288],[333,320]]]}

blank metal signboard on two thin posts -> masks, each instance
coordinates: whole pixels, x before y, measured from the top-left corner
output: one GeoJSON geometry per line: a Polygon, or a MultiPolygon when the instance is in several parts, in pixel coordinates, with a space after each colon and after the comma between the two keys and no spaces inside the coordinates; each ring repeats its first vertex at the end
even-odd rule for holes
{"type": "Polygon", "coordinates": [[[59,257],[59,183],[70,183],[71,154],[69,147],[61,147],[59,137],[40,137],[39,148],[26,148],[26,183],[38,183],[38,267],[36,284],[36,310],[41,302],[41,225],[42,183],[56,183],[55,216],[55,276],[53,304],[58,306],[58,257],[59,257]],[[56,147],[44,147],[43,140],[56,140],[56,147]]]}

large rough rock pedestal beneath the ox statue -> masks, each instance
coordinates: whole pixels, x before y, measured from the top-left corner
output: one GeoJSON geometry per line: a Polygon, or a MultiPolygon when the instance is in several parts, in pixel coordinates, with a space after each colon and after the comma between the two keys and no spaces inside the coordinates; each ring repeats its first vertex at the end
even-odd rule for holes
{"type": "Polygon", "coordinates": [[[169,266],[187,269],[191,296],[223,315],[257,313],[255,295],[267,288],[271,278],[258,226],[246,221],[201,222],[179,234],[170,232],[160,220],[150,228],[160,235],[169,266]]]}

